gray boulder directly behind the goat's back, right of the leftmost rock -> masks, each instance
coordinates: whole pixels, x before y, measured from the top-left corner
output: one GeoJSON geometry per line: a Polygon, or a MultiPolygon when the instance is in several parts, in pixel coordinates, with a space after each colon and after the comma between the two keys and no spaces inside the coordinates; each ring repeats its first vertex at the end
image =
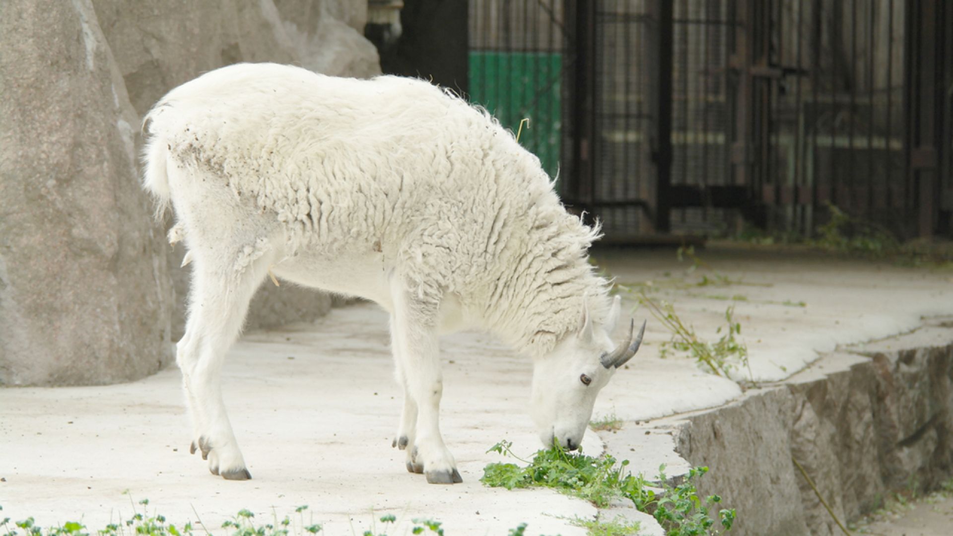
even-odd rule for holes
{"type": "MultiPolygon", "coordinates": [[[[94,5],[140,115],[175,86],[236,62],[291,63],[340,76],[380,73],[374,45],[358,32],[367,19],[366,0],[94,0],[94,5]]],[[[176,247],[169,257],[176,340],[184,330],[189,293],[189,270],[179,268],[184,254],[176,247]]],[[[245,327],[310,321],[330,307],[320,292],[268,282],[255,295],[245,327]]]]}

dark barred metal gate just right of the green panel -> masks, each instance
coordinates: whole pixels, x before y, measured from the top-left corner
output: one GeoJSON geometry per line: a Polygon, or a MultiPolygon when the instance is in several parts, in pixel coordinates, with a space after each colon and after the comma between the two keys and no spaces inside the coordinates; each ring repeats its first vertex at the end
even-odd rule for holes
{"type": "Polygon", "coordinates": [[[612,241],[707,232],[747,210],[732,166],[738,77],[729,69],[736,2],[568,2],[575,144],[567,203],[612,241]],[[737,211],[736,211],[737,212],[737,211]]]}

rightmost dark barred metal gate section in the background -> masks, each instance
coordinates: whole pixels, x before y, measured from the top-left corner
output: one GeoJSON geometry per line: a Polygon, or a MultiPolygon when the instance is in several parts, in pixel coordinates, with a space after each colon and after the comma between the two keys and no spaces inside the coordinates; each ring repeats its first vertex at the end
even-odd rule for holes
{"type": "Polygon", "coordinates": [[[733,67],[753,116],[740,123],[738,163],[761,222],[810,234],[834,205],[900,237],[948,231],[953,6],[773,0],[739,8],[748,50],[733,67]]]}

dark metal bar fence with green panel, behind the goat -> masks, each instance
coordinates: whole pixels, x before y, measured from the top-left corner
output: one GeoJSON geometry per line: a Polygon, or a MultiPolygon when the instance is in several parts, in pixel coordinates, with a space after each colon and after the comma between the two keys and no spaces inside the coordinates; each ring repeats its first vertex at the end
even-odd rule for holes
{"type": "Polygon", "coordinates": [[[470,97],[607,237],[949,234],[953,3],[471,0],[470,97]]]}

